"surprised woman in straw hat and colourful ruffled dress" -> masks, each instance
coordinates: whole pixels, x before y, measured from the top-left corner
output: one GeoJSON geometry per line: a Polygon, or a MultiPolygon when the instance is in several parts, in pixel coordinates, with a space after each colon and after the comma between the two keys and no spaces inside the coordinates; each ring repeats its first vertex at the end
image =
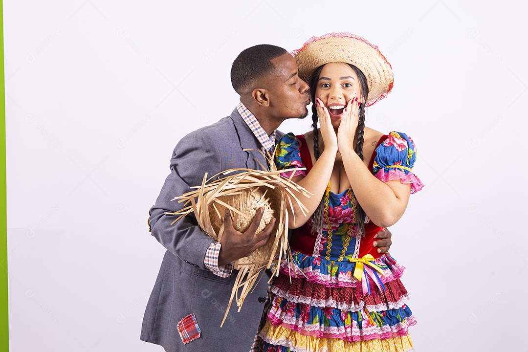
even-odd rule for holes
{"type": "Polygon", "coordinates": [[[412,139],[365,127],[365,106],[392,89],[391,66],[348,33],[314,37],[294,56],[310,82],[313,131],[282,138],[276,164],[306,167],[293,179],[314,196],[303,199],[307,214],[289,210],[294,262],[281,265],[272,285],[262,350],[410,350],[416,321],[399,279],[404,268],[372,246],[423,186],[412,174],[412,139]]]}

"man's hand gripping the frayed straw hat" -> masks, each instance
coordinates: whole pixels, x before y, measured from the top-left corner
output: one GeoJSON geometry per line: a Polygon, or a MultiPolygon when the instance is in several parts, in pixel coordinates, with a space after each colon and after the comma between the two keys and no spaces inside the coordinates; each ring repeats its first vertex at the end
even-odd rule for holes
{"type": "Polygon", "coordinates": [[[225,210],[224,234],[220,240],[222,247],[218,254],[219,266],[227,265],[234,260],[244,258],[244,256],[250,255],[254,250],[262,247],[268,242],[276,220],[275,217],[272,218],[264,230],[256,233],[263,213],[264,208],[259,208],[253,221],[249,225],[248,230],[241,233],[234,229],[231,214],[229,213],[229,210],[225,210]]]}

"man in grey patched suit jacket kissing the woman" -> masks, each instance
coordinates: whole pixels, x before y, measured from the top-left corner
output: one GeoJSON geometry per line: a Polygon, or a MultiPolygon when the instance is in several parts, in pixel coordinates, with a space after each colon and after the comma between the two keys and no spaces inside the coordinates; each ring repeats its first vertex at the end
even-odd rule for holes
{"type": "MultiPolygon", "coordinates": [[[[231,116],[178,142],[171,174],[150,210],[152,235],[167,251],[147,303],[141,339],[169,352],[249,351],[266,301],[267,275],[248,294],[241,311],[232,308],[220,328],[236,277],[231,262],[266,244],[275,220],[256,233],[261,210],[240,233],[227,212],[218,243],[197,226],[193,215],[171,225],[175,216],[165,214],[180,210],[182,204],[171,199],[200,185],[204,173],[261,169],[259,163],[266,165],[266,160],[256,149],[274,147],[282,136],[276,131],[280,123],[308,113],[308,85],[298,77],[293,57],[278,46],[256,45],[240,53],[231,68],[231,82],[240,104],[231,116]]],[[[378,242],[390,245],[390,239],[378,242]]]]}

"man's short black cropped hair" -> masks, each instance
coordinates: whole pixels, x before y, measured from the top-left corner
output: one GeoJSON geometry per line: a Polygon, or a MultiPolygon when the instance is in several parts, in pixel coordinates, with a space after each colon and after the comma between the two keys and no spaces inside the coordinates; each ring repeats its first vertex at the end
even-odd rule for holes
{"type": "Polygon", "coordinates": [[[242,51],[231,66],[231,84],[237,93],[252,90],[258,79],[275,70],[271,60],[288,53],[280,46],[260,44],[242,51]]]}

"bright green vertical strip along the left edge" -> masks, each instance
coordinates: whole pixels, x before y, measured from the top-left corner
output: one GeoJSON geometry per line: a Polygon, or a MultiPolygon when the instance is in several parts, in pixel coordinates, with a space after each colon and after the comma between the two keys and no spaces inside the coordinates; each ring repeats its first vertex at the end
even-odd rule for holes
{"type": "Polygon", "coordinates": [[[0,0],[0,351],[9,350],[7,317],[7,198],[5,183],[4,4],[0,0]]]}

